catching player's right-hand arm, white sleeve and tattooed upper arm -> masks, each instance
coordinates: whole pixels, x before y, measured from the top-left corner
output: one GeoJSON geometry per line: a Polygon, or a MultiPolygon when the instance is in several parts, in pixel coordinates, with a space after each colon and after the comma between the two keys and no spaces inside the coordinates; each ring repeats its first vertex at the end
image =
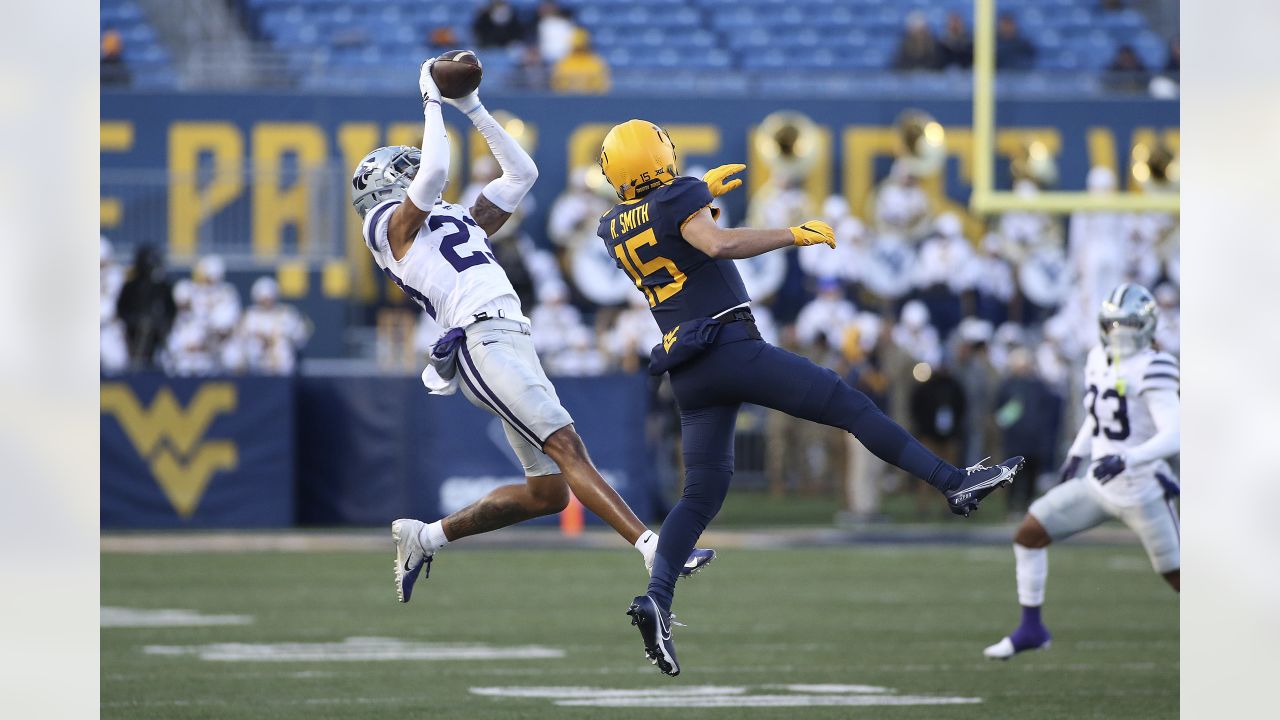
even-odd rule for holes
{"type": "Polygon", "coordinates": [[[498,124],[498,120],[493,119],[489,110],[480,102],[479,90],[456,100],[445,97],[444,101],[466,114],[471,124],[484,136],[485,142],[489,143],[489,151],[498,160],[498,167],[502,168],[502,176],[484,186],[475,206],[471,208],[471,217],[475,218],[476,224],[484,232],[493,234],[516,211],[516,206],[534,187],[534,181],[538,179],[538,165],[534,164],[529,152],[525,152],[525,149],[516,142],[516,138],[511,137],[498,124]]]}

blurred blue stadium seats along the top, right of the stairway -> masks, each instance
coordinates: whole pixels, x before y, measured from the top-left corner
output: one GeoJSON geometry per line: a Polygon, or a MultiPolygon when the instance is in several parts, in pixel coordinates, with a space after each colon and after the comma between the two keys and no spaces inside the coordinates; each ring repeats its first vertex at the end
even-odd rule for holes
{"type": "MultiPolygon", "coordinates": [[[[253,32],[289,53],[300,83],[315,88],[344,82],[342,73],[329,72],[333,69],[353,70],[362,83],[399,86],[398,78],[361,70],[443,50],[428,45],[429,33],[439,27],[451,28],[460,45],[468,45],[471,20],[481,5],[420,0],[239,1],[253,32]]],[[[513,4],[531,17],[536,0],[513,4]]],[[[970,22],[973,15],[972,0],[649,0],[621,8],[611,0],[562,0],[561,5],[591,31],[596,49],[614,70],[614,87],[625,91],[653,90],[654,78],[644,73],[653,67],[690,73],[724,70],[710,79],[686,73],[663,76],[658,85],[668,90],[733,91],[750,85],[740,76],[762,70],[767,77],[755,82],[778,87],[796,81],[806,87],[868,85],[867,78],[820,76],[887,69],[902,20],[911,10],[923,12],[936,32],[950,12],[970,22]],[[814,18],[823,19],[820,27],[814,26],[814,18]]],[[[1093,78],[1061,76],[1096,73],[1121,44],[1133,45],[1152,69],[1165,63],[1165,41],[1151,32],[1137,10],[1103,12],[1096,0],[1002,0],[1000,9],[1019,18],[1023,32],[1039,49],[1037,69],[1052,76],[1019,78],[1010,87],[1065,82],[1096,88],[1093,78]]],[[[490,82],[495,77],[500,82],[513,65],[515,59],[502,53],[485,54],[490,82]]],[[[945,79],[909,82],[954,85],[945,79]]]]}

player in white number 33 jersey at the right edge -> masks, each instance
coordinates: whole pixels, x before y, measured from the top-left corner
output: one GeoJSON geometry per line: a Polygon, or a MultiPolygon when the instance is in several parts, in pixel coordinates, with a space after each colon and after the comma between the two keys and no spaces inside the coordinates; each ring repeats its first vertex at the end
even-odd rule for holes
{"type": "Polygon", "coordinates": [[[1178,360],[1152,346],[1157,314],[1156,299],[1139,284],[1124,283],[1102,302],[1102,345],[1084,368],[1085,419],[1064,482],[1032,503],[1014,536],[1021,623],[983,651],[987,657],[1048,647],[1041,620],[1046,548],[1111,518],[1138,533],[1151,566],[1179,589],[1179,489],[1167,462],[1179,447],[1178,360]]]}

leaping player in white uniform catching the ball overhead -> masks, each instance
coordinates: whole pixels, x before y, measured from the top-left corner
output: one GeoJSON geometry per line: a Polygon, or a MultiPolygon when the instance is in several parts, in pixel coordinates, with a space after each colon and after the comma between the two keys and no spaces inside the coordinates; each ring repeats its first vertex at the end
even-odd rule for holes
{"type": "MultiPolygon", "coordinates": [[[[397,598],[410,601],[419,574],[430,574],[434,555],[449,542],[559,512],[570,491],[635,544],[652,569],[658,537],[591,464],[538,361],[516,291],[489,247],[489,236],[532,187],[538,168],[485,110],[477,92],[442,97],[431,79],[433,61],[422,64],[419,77],[422,150],[380,147],[366,155],[351,181],[352,204],[364,218],[365,243],[378,266],[448,331],[431,352],[424,383],[434,393],[449,395],[461,380],[472,405],[500,418],[526,482],[497,488],[434,523],[392,523],[397,598]],[[449,170],[442,101],[471,119],[502,168],[470,209],[442,199],[449,170]]],[[[695,548],[684,574],[712,559],[713,551],[695,548]]]]}

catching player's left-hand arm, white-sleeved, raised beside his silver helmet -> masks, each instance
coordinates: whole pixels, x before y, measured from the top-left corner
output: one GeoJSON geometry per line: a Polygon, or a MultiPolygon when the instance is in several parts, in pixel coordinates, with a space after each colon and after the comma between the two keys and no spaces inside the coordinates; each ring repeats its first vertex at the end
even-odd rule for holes
{"type": "Polygon", "coordinates": [[[387,225],[387,240],[397,260],[403,259],[413,245],[417,231],[449,179],[449,136],[440,117],[440,90],[431,79],[431,60],[419,69],[417,87],[422,91],[422,164],[408,184],[408,199],[392,210],[387,225]]]}

